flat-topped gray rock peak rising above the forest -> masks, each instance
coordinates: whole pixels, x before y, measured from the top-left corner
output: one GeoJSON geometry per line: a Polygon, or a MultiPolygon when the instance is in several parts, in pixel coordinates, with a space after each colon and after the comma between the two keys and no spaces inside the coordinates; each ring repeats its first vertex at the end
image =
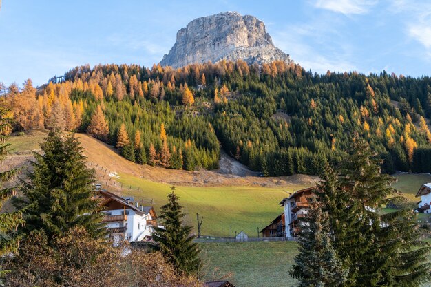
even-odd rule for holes
{"type": "Polygon", "coordinates": [[[262,21],[238,12],[224,12],[194,19],[180,29],[174,47],[163,56],[160,65],[177,68],[222,59],[241,59],[249,64],[291,62],[288,54],[274,46],[262,21]]]}

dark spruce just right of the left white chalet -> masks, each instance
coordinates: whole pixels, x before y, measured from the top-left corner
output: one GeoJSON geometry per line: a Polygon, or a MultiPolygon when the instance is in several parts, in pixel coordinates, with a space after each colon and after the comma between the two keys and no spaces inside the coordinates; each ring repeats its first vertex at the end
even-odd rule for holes
{"type": "Polygon", "coordinates": [[[198,244],[193,243],[195,236],[191,235],[191,226],[183,222],[185,213],[182,212],[182,206],[175,194],[175,187],[171,187],[171,193],[167,197],[167,204],[160,208],[159,218],[163,227],[156,228],[154,240],[176,270],[180,273],[196,274],[201,265],[199,248],[198,244]]]}

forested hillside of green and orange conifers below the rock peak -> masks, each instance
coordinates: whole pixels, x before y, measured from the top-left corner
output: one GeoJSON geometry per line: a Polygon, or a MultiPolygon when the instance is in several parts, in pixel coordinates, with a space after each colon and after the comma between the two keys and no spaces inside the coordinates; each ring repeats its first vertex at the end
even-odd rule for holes
{"type": "Polygon", "coordinates": [[[1,100],[14,129],[87,131],[129,160],[171,169],[217,168],[221,145],[266,176],[315,174],[341,161],[359,134],[384,171],[431,171],[429,77],[222,61],[177,70],[86,65],[62,80],[7,89],[1,100]]]}

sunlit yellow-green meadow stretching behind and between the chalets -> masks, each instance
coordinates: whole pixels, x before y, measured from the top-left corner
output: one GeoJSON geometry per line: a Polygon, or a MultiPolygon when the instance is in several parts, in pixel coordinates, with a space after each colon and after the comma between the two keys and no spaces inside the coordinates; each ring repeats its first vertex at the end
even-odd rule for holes
{"type": "MultiPolygon", "coordinates": [[[[151,182],[119,173],[119,182],[141,191],[123,191],[137,198],[154,199],[156,212],[167,201],[169,184],[151,182]]],[[[176,187],[176,194],[185,206],[187,222],[196,227],[196,213],[202,215],[202,235],[230,236],[235,231],[244,231],[257,237],[257,228],[267,226],[275,217],[283,213],[279,202],[288,192],[304,186],[292,185],[288,189],[265,187],[176,187]]]]}

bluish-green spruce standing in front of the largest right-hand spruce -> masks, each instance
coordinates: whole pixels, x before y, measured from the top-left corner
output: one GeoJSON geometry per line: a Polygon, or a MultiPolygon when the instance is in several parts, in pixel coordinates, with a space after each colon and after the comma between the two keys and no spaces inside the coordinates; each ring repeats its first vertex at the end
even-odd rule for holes
{"type": "Polygon", "coordinates": [[[342,267],[332,246],[328,213],[313,202],[303,223],[291,276],[299,279],[301,287],[340,286],[348,270],[342,267]]]}

